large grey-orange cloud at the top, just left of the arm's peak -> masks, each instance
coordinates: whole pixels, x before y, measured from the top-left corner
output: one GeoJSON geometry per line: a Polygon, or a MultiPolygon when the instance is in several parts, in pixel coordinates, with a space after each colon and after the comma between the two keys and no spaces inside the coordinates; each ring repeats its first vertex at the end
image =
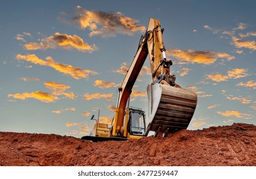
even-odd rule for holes
{"type": "MultiPolygon", "coordinates": [[[[146,30],[145,26],[139,25],[139,20],[124,16],[121,12],[89,11],[81,8],[81,6],[76,6],[76,9],[76,14],[71,22],[78,23],[81,29],[89,29],[89,36],[101,35],[102,37],[107,37],[115,36],[117,33],[133,35],[134,33],[142,33],[146,30]]],[[[62,15],[70,14],[62,13],[62,15]]]]}

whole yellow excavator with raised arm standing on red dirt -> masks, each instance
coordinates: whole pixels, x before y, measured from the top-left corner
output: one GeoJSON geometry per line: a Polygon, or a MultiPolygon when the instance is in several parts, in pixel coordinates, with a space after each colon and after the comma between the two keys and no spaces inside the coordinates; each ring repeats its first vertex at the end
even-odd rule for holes
{"type": "Polygon", "coordinates": [[[141,37],[133,62],[119,88],[111,126],[96,121],[90,135],[81,139],[94,142],[140,139],[148,136],[149,132],[153,136],[158,134],[166,136],[189,126],[196,109],[197,96],[193,91],[181,88],[175,83],[175,75],[169,74],[173,63],[166,58],[163,31],[159,20],[149,19],[148,29],[141,37]],[[146,127],[145,112],[130,107],[129,98],[147,56],[149,56],[153,82],[147,87],[148,126],[146,127]]]}

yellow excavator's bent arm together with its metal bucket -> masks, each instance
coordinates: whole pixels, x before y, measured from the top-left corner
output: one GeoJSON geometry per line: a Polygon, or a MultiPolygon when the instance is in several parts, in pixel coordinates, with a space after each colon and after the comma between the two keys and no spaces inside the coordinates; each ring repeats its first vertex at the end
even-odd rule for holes
{"type": "Polygon", "coordinates": [[[148,29],[141,38],[132,65],[119,88],[111,136],[127,137],[128,135],[128,118],[124,119],[126,105],[148,55],[153,82],[148,85],[149,125],[145,135],[148,135],[150,130],[155,131],[156,134],[158,132],[173,133],[176,130],[187,128],[191,121],[197,97],[194,92],[180,88],[175,83],[175,75],[169,74],[169,68],[173,63],[166,58],[163,31],[159,20],[149,19],[148,29]]]}

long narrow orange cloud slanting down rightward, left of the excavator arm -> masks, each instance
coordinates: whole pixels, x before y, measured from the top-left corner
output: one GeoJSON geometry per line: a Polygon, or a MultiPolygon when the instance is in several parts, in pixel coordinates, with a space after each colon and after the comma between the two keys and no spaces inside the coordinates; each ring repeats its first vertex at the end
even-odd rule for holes
{"type": "Polygon", "coordinates": [[[87,79],[89,78],[89,74],[98,75],[98,72],[94,72],[91,70],[83,70],[79,67],[65,65],[62,63],[56,63],[51,57],[46,57],[46,61],[44,61],[43,59],[38,58],[35,54],[28,54],[28,55],[17,54],[16,58],[29,61],[36,65],[50,66],[55,70],[57,70],[58,72],[61,72],[66,75],[70,75],[74,79],[81,79],[81,78],[87,79]]]}

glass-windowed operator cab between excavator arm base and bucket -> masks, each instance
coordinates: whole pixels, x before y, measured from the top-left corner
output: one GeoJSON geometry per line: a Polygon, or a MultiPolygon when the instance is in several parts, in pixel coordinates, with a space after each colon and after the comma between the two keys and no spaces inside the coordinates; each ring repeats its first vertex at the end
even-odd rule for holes
{"type": "Polygon", "coordinates": [[[128,132],[130,135],[144,136],[146,131],[145,112],[135,107],[130,107],[129,111],[128,132]]]}

